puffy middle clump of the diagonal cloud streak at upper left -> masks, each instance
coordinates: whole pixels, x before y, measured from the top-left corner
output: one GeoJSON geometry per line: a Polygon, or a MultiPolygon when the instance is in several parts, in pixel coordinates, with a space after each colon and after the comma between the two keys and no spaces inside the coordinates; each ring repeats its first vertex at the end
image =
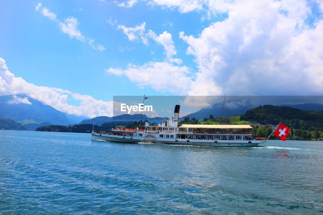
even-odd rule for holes
{"type": "Polygon", "coordinates": [[[61,31],[72,38],[76,38],[82,42],[85,42],[85,38],[82,33],[78,30],[78,19],[70,16],[64,20],[64,23],[59,22],[59,27],[61,31]]]}

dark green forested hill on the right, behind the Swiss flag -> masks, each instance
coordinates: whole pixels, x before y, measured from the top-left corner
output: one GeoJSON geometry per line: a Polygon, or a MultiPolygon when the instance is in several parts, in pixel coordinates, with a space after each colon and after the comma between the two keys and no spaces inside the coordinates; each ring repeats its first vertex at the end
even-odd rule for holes
{"type": "Polygon", "coordinates": [[[282,121],[289,128],[323,131],[323,111],[264,105],[248,110],[240,116],[240,120],[273,125],[282,121]]]}

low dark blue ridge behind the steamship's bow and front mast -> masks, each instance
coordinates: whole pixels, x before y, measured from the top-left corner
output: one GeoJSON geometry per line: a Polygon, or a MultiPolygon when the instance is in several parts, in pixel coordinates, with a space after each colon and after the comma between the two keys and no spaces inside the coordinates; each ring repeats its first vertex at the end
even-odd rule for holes
{"type": "MultiPolygon", "coordinates": [[[[102,125],[103,122],[113,122],[113,121],[140,121],[141,114],[122,114],[115,117],[106,117],[106,116],[100,116],[95,117],[92,119],[85,119],[82,120],[81,124],[92,124],[94,121],[94,125],[102,125]]],[[[164,117],[165,118],[165,117],[164,117]]],[[[155,118],[149,118],[145,114],[142,115],[142,121],[148,120],[151,123],[161,123],[161,120],[164,118],[162,117],[155,117],[155,118]]]]}

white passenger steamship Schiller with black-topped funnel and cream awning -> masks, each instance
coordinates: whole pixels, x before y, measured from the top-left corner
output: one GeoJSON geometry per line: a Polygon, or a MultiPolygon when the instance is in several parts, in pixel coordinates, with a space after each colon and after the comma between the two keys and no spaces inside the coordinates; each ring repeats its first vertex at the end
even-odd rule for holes
{"type": "Polygon", "coordinates": [[[165,118],[158,124],[145,122],[144,129],[112,128],[110,132],[93,129],[92,140],[213,147],[256,147],[267,141],[267,138],[254,137],[250,125],[178,126],[179,112],[180,105],[175,105],[173,118],[165,118]]]}

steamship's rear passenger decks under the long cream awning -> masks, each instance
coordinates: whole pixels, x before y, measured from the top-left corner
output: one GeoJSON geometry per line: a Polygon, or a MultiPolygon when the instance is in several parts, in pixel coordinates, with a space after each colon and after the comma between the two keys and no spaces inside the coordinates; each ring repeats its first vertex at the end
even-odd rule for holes
{"type": "Polygon", "coordinates": [[[181,125],[179,139],[252,140],[250,125],[181,125]]]}

